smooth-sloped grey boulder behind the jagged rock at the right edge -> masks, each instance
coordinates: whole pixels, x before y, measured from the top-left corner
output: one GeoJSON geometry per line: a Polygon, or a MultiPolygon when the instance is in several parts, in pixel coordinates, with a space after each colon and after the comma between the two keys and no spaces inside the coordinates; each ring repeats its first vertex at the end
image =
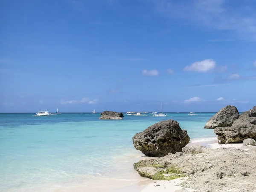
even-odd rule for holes
{"type": "Polygon", "coordinates": [[[235,106],[227,105],[212,116],[205,124],[204,128],[214,129],[215,127],[230,127],[239,118],[239,112],[235,106]]]}

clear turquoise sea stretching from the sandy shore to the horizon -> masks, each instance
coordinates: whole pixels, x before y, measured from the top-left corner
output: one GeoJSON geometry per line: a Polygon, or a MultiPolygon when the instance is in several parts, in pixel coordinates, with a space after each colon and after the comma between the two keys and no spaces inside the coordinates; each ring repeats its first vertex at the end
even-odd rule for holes
{"type": "Polygon", "coordinates": [[[100,114],[0,113],[0,191],[47,191],[47,187],[86,182],[109,174],[123,157],[138,154],[135,133],[174,119],[192,142],[211,140],[204,125],[215,113],[168,113],[166,117],[127,116],[99,120],[100,114]],[[38,187],[38,190],[37,190],[38,187]]]}

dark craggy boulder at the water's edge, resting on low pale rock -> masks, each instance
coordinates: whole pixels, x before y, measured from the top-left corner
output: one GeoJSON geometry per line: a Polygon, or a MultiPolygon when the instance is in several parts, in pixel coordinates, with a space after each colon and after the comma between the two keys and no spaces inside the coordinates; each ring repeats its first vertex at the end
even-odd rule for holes
{"type": "Polygon", "coordinates": [[[189,139],[187,131],[182,130],[179,123],[172,119],[151,125],[132,138],[134,147],[150,157],[182,151],[189,139]]]}

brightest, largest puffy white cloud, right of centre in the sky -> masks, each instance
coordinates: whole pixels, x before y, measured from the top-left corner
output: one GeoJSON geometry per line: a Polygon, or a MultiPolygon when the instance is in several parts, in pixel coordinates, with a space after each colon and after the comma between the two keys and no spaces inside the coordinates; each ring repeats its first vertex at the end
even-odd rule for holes
{"type": "Polygon", "coordinates": [[[191,65],[187,65],[184,71],[194,71],[199,73],[206,73],[215,68],[216,62],[212,59],[205,59],[204,61],[194,62],[191,65]]]}

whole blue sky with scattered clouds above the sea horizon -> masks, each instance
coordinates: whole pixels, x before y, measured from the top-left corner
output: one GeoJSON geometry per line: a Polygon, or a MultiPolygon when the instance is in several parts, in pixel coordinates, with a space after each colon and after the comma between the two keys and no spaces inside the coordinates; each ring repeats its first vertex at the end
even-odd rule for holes
{"type": "Polygon", "coordinates": [[[1,0],[0,112],[256,105],[254,0],[1,0]]]}

